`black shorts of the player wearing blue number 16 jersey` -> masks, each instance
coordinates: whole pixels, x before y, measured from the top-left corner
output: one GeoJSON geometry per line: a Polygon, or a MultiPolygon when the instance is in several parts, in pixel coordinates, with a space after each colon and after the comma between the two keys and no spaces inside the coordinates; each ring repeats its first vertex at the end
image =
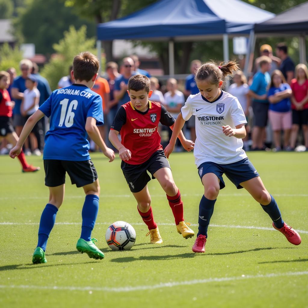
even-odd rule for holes
{"type": "Polygon", "coordinates": [[[71,178],[72,184],[82,187],[97,180],[97,172],[91,160],[71,161],[45,159],[45,185],[55,187],[65,183],[65,172],[71,178]]]}

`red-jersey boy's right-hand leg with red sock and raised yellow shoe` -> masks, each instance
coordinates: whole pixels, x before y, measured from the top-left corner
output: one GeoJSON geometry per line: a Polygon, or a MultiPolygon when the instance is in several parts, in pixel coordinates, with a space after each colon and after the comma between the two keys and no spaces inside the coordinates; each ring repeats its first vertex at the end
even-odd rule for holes
{"type": "MultiPolygon", "coordinates": [[[[165,157],[164,159],[166,160],[165,157]]],[[[154,164],[156,165],[157,161],[154,164]]],[[[175,219],[177,232],[182,234],[182,236],[186,239],[193,237],[195,233],[188,227],[190,223],[184,222],[184,210],[183,202],[181,200],[181,193],[174,183],[171,169],[169,167],[160,168],[153,173],[153,177],[158,180],[160,186],[166,193],[169,206],[175,219]]]]}

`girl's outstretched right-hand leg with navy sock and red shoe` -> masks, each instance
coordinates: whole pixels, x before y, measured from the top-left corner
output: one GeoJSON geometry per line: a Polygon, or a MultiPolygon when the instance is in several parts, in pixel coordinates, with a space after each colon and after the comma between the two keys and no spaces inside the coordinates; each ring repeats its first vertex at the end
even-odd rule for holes
{"type": "Polygon", "coordinates": [[[260,176],[254,177],[250,180],[240,183],[250,195],[260,203],[262,209],[270,216],[273,221],[273,227],[283,233],[287,240],[294,244],[301,243],[299,234],[289,227],[283,220],[274,197],[266,190],[260,176]]]}

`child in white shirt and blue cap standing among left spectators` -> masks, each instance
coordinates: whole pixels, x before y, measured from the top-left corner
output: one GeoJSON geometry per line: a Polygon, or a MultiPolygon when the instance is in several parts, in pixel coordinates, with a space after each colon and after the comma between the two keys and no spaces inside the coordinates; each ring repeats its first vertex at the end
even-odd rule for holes
{"type": "MultiPolygon", "coordinates": [[[[20,113],[28,120],[35,111],[39,109],[40,93],[37,88],[37,79],[34,75],[29,75],[25,80],[26,90],[23,93],[22,103],[20,106],[20,113]]],[[[42,123],[38,121],[32,132],[29,135],[31,148],[34,155],[41,155],[41,151],[38,148],[38,141],[35,135],[43,135],[42,123]]],[[[31,155],[30,147],[28,143],[25,143],[25,154],[31,155]]]]}

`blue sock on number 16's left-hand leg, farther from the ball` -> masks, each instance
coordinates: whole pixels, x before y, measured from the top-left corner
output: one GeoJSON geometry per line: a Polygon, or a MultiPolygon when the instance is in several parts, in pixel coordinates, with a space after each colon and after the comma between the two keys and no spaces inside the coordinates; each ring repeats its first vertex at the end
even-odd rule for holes
{"type": "Polygon", "coordinates": [[[44,251],[46,249],[47,240],[51,229],[55,225],[58,208],[55,205],[47,203],[43,210],[41,221],[39,223],[39,240],[37,247],[41,247],[44,251]]]}

